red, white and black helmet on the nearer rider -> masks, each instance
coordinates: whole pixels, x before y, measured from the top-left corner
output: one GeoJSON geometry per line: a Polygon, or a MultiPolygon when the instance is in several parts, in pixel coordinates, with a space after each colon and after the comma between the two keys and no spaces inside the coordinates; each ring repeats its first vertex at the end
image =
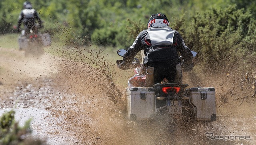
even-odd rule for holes
{"type": "Polygon", "coordinates": [[[148,28],[153,26],[169,26],[169,20],[164,14],[152,14],[148,20],[148,28]]]}

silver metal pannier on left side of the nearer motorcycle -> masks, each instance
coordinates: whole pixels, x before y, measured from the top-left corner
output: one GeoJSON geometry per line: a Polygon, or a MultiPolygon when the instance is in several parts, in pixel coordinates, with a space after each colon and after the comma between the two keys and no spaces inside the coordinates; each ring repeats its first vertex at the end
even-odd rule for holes
{"type": "Polygon", "coordinates": [[[128,87],[126,98],[128,119],[150,119],[155,114],[154,87],[128,87]]]}

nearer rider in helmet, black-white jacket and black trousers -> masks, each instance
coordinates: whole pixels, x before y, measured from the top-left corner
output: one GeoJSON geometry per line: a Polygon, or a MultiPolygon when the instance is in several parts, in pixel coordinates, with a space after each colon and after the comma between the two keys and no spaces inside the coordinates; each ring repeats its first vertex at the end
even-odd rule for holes
{"type": "Polygon", "coordinates": [[[193,68],[193,54],[184,44],[180,34],[169,27],[164,14],[153,14],[148,20],[148,29],[143,30],[124,54],[123,62],[118,66],[127,70],[134,56],[144,50],[143,65],[154,68],[154,83],[167,79],[169,83],[182,83],[182,69],[178,52],[184,60],[184,68],[193,68]]]}

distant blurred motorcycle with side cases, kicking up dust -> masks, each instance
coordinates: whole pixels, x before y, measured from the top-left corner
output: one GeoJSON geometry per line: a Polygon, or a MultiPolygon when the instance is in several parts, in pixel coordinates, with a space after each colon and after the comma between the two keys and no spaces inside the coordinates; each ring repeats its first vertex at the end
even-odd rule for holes
{"type": "Polygon", "coordinates": [[[18,43],[19,49],[25,51],[25,56],[41,56],[44,54],[43,47],[51,45],[51,38],[49,33],[41,34],[30,29],[30,32],[25,34],[25,30],[22,30],[18,43]]]}

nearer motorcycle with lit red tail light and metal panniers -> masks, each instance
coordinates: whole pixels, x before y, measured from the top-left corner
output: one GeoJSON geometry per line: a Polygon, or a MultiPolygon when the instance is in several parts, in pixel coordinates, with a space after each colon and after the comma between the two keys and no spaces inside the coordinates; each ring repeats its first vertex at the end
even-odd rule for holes
{"type": "MultiPolygon", "coordinates": [[[[117,50],[124,56],[126,50],[117,50]]],[[[192,51],[194,57],[196,52],[192,51]]],[[[182,56],[179,57],[183,64],[182,56]]],[[[119,65],[122,60],[117,60],[119,65]]],[[[128,80],[126,88],[127,117],[131,120],[153,119],[156,115],[186,115],[197,121],[215,121],[215,89],[214,87],[188,87],[188,84],[169,83],[166,79],[152,84],[150,67],[140,64],[134,58],[130,68],[134,76],[128,80]],[[150,76],[150,77],[149,77],[150,76]],[[150,84],[150,85],[148,85],[150,84]]]]}

